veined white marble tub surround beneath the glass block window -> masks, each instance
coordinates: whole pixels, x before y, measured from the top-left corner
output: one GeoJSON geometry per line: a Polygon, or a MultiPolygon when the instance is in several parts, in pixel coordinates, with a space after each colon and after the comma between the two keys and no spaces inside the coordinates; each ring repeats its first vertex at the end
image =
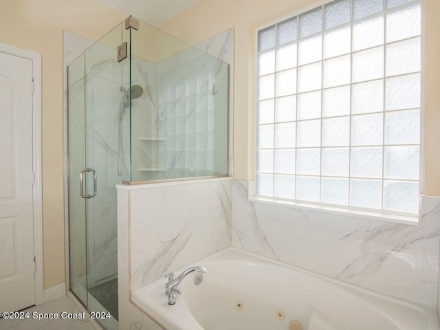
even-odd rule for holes
{"type": "Polygon", "coordinates": [[[232,245],[437,307],[439,197],[422,197],[419,225],[404,225],[248,201],[248,181],[232,190],[232,245]]]}

